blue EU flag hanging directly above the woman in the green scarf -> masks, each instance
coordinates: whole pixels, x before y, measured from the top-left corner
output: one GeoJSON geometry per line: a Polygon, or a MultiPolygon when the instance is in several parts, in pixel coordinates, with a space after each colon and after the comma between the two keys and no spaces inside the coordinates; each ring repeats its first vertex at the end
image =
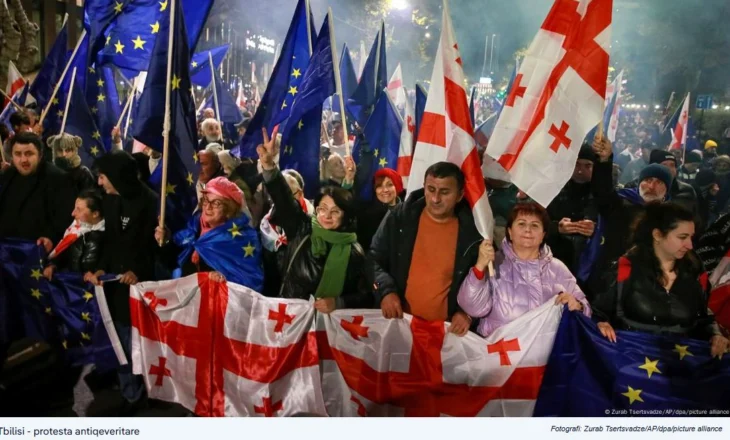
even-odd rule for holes
{"type": "Polygon", "coordinates": [[[305,195],[316,194],[319,187],[319,140],[322,103],[336,91],[335,71],[330,44],[329,16],[325,17],[312,51],[301,94],[282,123],[282,152],[279,165],[292,168],[304,179],[305,195]]]}

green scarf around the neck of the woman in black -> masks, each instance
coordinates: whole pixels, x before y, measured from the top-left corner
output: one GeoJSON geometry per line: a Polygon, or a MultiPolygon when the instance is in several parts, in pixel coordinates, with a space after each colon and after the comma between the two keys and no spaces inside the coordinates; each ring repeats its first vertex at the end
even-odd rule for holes
{"type": "Polygon", "coordinates": [[[336,298],[342,294],[342,288],[345,286],[350,251],[353,243],[357,243],[357,234],[324,229],[317,221],[317,217],[312,217],[311,240],[312,255],[315,257],[327,255],[315,297],[336,298]],[[327,244],[332,245],[329,254],[327,254],[327,244]]]}

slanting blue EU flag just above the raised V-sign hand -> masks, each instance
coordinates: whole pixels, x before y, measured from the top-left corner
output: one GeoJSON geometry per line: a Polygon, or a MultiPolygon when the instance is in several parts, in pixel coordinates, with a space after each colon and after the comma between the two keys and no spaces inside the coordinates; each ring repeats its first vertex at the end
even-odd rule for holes
{"type": "Polygon", "coordinates": [[[264,96],[246,134],[240,144],[233,149],[234,155],[257,157],[256,147],[263,142],[261,129],[266,128],[271,133],[277,124],[289,117],[291,106],[298,98],[302,76],[309,64],[310,44],[313,46],[316,38],[312,14],[307,16],[306,1],[299,0],[264,96]],[[307,26],[310,27],[309,32],[307,26]]]}

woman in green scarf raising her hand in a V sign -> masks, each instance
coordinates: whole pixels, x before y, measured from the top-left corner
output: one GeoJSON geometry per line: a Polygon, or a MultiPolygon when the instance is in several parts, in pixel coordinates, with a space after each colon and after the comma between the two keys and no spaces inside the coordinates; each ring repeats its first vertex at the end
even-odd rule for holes
{"type": "Polygon", "coordinates": [[[263,132],[264,144],[257,148],[259,162],[277,212],[276,226],[285,234],[285,245],[277,252],[279,296],[314,296],[314,306],[322,313],[372,307],[373,295],[365,280],[365,253],[355,234],[352,194],[340,187],[324,187],[315,199],[315,215],[307,215],[274,160],[278,155],[276,132],[271,138],[265,129],[263,132]]]}

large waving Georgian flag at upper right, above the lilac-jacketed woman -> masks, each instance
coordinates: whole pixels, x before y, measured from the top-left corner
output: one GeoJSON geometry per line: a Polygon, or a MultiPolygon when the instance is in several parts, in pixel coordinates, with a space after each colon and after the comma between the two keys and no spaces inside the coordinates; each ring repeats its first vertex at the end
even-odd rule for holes
{"type": "Polygon", "coordinates": [[[547,206],[603,115],[613,0],[555,0],[487,146],[512,182],[547,206]]]}

